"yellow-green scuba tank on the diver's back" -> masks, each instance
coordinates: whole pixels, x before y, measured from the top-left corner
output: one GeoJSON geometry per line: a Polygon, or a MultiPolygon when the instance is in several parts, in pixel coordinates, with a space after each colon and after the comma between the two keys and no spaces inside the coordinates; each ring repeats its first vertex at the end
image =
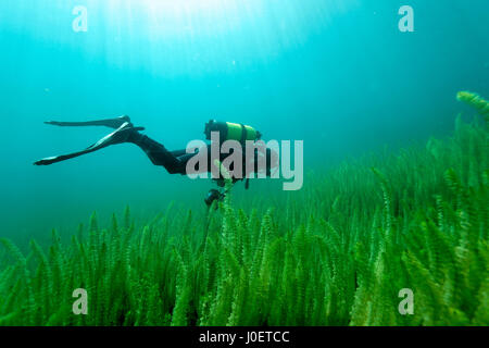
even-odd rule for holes
{"type": "Polygon", "coordinates": [[[251,126],[247,126],[239,123],[218,122],[211,120],[205,124],[205,138],[211,140],[211,133],[220,133],[220,141],[237,140],[244,144],[246,140],[256,141],[260,140],[262,134],[251,126]]]}

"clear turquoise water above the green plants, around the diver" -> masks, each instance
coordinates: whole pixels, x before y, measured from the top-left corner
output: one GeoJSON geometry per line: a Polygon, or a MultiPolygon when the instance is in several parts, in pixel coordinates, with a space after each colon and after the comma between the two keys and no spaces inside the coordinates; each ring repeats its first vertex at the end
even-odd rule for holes
{"type": "MultiPolygon", "coordinates": [[[[203,138],[211,117],[246,123],[303,140],[305,171],[447,136],[456,91],[489,96],[488,22],[487,0],[2,0],[0,234],[70,232],[126,204],[140,219],[171,201],[203,210],[215,186],[168,175],[133,145],[36,167],[108,132],[51,119],[128,114],[168,149],[203,138]],[[414,33],[398,28],[403,4],[414,33]],[[87,32],[73,30],[76,5],[87,32]]],[[[262,192],[251,186],[237,195],[262,192]]]]}

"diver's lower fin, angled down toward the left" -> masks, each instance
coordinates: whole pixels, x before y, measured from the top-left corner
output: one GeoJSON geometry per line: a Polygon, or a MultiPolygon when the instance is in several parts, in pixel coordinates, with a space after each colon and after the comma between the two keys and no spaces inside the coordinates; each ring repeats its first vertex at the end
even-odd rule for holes
{"type": "Polygon", "coordinates": [[[66,161],[66,160],[73,159],[78,156],[90,153],[90,152],[103,149],[111,145],[126,142],[129,137],[130,132],[137,132],[137,130],[143,130],[143,129],[145,129],[143,127],[133,127],[133,125],[130,123],[125,122],[116,130],[104,136],[99,141],[89,146],[85,150],[68,153],[68,154],[61,154],[61,156],[57,156],[57,157],[48,157],[46,159],[34,162],[34,165],[49,165],[52,163],[66,161]]]}

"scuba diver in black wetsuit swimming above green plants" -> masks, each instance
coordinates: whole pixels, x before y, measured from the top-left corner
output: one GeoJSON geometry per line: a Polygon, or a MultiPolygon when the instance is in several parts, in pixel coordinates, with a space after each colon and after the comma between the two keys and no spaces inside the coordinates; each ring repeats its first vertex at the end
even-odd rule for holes
{"type": "MultiPolygon", "coordinates": [[[[95,152],[98,150],[101,150],[108,146],[116,145],[116,144],[125,144],[130,142],[138,146],[148,156],[150,161],[154,165],[160,165],[165,167],[165,170],[170,174],[187,174],[187,163],[190,159],[192,159],[195,156],[197,156],[201,149],[197,149],[195,153],[187,153],[187,150],[176,150],[176,151],[168,151],[163,145],[160,142],[151,139],[150,137],[139,133],[139,130],[145,130],[145,127],[136,127],[130,122],[129,116],[124,115],[115,119],[108,119],[108,120],[98,120],[98,121],[88,121],[88,122],[58,122],[58,121],[48,121],[45,122],[46,124],[55,125],[55,126],[105,126],[110,128],[114,128],[115,130],[111,134],[104,136],[96,144],[89,146],[85,150],[68,153],[68,154],[61,154],[57,157],[49,157],[45,158],[42,160],[36,161],[35,165],[50,165],[57,162],[65,161],[68,159],[73,159],[83,154],[87,154],[90,152],[95,152]]],[[[260,132],[255,130],[254,128],[243,125],[243,124],[236,124],[230,122],[217,122],[215,120],[211,120],[209,123],[205,124],[204,134],[206,136],[208,140],[211,140],[211,133],[218,132],[218,139],[221,142],[225,140],[237,140],[241,145],[241,147],[244,146],[244,142],[247,140],[251,141],[258,141],[261,139],[260,132]]],[[[205,145],[208,152],[211,153],[211,145],[205,145]]],[[[233,152],[230,152],[233,153],[233,152]]],[[[220,161],[223,162],[223,160],[230,156],[229,154],[222,154],[220,151],[220,161]]],[[[244,151],[242,151],[242,154],[244,151]]],[[[273,169],[276,169],[278,166],[278,157],[275,151],[271,150],[269,148],[264,149],[254,149],[254,157],[252,159],[247,158],[246,156],[242,156],[243,163],[242,167],[246,167],[247,162],[251,161],[253,172],[259,173],[259,157],[262,156],[264,159],[266,159],[266,169],[265,169],[265,175],[271,176],[271,172],[273,169]]],[[[197,169],[197,172],[211,172],[211,169],[215,163],[212,163],[211,157],[208,156],[208,165],[203,169],[197,169]]],[[[228,171],[233,171],[233,167],[227,169],[228,171]]],[[[242,176],[231,176],[233,184],[235,184],[238,181],[242,181],[246,178],[246,189],[249,187],[249,178],[246,175],[242,176]]],[[[221,188],[225,187],[224,178],[213,178],[217,182],[217,186],[221,188]]],[[[211,189],[205,197],[205,203],[208,207],[211,207],[214,201],[222,201],[224,197],[226,196],[227,190],[224,188],[223,190],[217,189],[211,189]]],[[[216,207],[217,208],[217,207],[216,207]]]]}

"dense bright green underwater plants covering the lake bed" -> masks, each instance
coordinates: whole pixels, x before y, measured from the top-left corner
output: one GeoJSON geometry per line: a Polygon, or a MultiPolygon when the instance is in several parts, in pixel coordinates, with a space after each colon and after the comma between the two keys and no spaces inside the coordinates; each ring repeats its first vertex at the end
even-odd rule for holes
{"type": "Polygon", "coordinates": [[[267,211],[226,198],[136,227],[127,208],[27,254],[2,239],[0,324],[489,325],[488,102],[457,98],[486,123],[311,175],[267,211]]]}

